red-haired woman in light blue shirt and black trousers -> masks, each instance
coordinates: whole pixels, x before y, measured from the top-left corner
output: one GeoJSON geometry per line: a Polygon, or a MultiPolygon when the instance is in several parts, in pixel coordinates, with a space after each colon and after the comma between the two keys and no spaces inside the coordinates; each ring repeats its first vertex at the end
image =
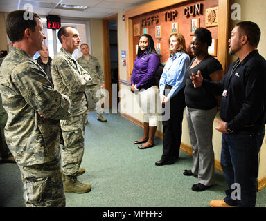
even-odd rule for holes
{"type": "Polygon", "coordinates": [[[185,72],[190,64],[184,36],[172,33],[168,39],[170,57],[163,68],[159,89],[163,115],[163,155],[155,165],[174,164],[179,157],[185,108],[185,72]]]}

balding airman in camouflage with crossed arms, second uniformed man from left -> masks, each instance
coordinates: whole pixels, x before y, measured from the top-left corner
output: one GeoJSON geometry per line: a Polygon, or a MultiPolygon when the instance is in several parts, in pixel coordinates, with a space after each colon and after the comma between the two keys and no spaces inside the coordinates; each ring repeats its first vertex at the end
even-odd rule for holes
{"type": "MultiPolygon", "coordinates": [[[[72,56],[80,43],[78,31],[75,28],[63,26],[58,31],[58,39],[62,43],[62,48],[51,62],[52,79],[55,90],[69,97],[72,113],[69,119],[60,121],[64,139],[62,148],[64,191],[87,193],[91,190],[91,185],[78,182],[76,176],[79,175],[84,153],[87,111],[85,88],[91,77],[72,56]]],[[[82,170],[85,171],[83,168],[82,170]]]]}

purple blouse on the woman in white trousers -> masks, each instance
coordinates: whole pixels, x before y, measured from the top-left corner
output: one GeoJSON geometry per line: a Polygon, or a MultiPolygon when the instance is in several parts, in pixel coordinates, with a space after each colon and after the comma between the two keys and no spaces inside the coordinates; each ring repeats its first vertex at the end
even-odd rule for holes
{"type": "Polygon", "coordinates": [[[136,57],[132,70],[131,84],[135,84],[139,90],[157,85],[155,73],[161,63],[160,57],[154,53],[145,57],[146,55],[147,51],[140,57],[136,57]]]}

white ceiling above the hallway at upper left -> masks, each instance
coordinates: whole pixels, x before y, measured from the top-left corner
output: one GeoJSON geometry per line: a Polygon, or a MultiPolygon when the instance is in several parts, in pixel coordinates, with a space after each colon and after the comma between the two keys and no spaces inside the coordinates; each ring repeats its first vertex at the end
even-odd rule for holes
{"type": "Polygon", "coordinates": [[[60,17],[104,18],[123,10],[129,10],[143,3],[154,0],[0,0],[0,11],[29,10],[39,15],[59,15],[60,17]],[[83,12],[55,8],[57,4],[88,6],[83,12]]]}

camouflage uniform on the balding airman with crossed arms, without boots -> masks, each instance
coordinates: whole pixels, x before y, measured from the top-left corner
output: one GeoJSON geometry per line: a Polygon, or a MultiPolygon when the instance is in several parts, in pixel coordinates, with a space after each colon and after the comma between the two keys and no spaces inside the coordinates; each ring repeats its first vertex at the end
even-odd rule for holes
{"type": "Polygon", "coordinates": [[[85,112],[87,111],[85,87],[91,77],[64,48],[61,48],[53,58],[51,73],[55,90],[67,95],[71,101],[71,118],[61,120],[60,124],[64,139],[62,172],[64,175],[73,176],[78,173],[84,153],[85,112]]]}

